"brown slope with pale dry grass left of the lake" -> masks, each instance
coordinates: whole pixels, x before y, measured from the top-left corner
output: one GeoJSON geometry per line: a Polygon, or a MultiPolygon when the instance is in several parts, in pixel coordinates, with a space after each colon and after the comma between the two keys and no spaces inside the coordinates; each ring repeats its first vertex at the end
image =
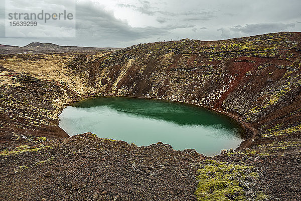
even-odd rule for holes
{"type": "Polygon", "coordinates": [[[18,134],[68,136],[58,127],[57,116],[71,98],[71,92],[3,67],[0,67],[0,78],[0,142],[18,134]]]}

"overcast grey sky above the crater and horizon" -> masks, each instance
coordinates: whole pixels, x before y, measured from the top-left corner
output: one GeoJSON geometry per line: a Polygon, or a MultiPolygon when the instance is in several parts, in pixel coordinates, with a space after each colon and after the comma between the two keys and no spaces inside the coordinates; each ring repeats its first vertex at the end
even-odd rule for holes
{"type": "MultiPolygon", "coordinates": [[[[27,12],[32,12],[33,8],[42,9],[34,0],[7,1],[12,3],[10,7],[19,6],[27,12]]],[[[50,8],[72,10],[72,4],[63,7],[60,3],[63,1],[44,2],[51,2],[51,7],[43,8],[46,11],[50,8]]],[[[14,38],[2,35],[0,44],[24,46],[39,41],[59,45],[127,47],[183,38],[221,40],[280,31],[300,32],[300,8],[300,0],[77,0],[75,35],[63,37],[62,27],[57,29],[49,23],[39,30],[40,36],[33,33],[14,38]],[[50,30],[61,34],[46,37],[46,31],[50,30]]],[[[9,9],[12,10],[7,6],[0,11],[0,18],[7,18],[4,10],[8,12],[9,9]]],[[[4,20],[0,22],[0,35],[5,33],[4,23],[4,20]]]]}

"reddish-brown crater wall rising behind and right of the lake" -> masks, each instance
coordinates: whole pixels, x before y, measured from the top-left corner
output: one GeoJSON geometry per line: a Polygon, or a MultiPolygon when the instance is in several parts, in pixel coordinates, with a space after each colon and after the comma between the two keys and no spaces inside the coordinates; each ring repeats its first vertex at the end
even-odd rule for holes
{"type": "Polygon", "coordinates": [[[250,147],[301,132],[300,51],[300,33],[139,44],[95,61],[86,75],[99,95],[183,101],[224,112],[245,126],[242,147],[250,147]]]}

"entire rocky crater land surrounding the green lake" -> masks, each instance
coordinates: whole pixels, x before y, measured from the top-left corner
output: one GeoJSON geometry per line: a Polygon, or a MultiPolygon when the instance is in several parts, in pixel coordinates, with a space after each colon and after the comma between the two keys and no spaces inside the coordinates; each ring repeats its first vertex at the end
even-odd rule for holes
{"type": "Polygon", "coordinates": [[[276,33],[2,55],[0,197],[300,200],[300,47],[300,33],[276,33]],[[236,152],[210,158],[162,143],[69,137],[58,127],[69,103],[105,95],[200,105],[239,121],[247,138],[236,152]]]}

